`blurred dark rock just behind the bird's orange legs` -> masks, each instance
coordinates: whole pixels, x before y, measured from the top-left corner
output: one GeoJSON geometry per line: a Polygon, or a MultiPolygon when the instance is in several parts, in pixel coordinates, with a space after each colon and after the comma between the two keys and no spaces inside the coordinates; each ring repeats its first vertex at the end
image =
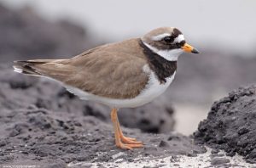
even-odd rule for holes
{"type": "Polygon", "coordinates": [[[172,104],[165,104],[160,99],[136,109],[120,109],[119,120],[122,125],[140,128],[143,132],[170,132],[175,120],[172,104]]]}

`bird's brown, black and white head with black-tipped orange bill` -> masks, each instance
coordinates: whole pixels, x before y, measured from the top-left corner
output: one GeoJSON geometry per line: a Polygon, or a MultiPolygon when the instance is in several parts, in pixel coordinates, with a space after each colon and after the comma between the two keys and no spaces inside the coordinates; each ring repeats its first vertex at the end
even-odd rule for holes
{"type": "Polygon", "coordinates": [[[167,60],[177,60],[177,57],[183,52],[199,53],[185,41],[183,33],[173,27],[154,29],[141,39],[149,49],[167,60]]]}

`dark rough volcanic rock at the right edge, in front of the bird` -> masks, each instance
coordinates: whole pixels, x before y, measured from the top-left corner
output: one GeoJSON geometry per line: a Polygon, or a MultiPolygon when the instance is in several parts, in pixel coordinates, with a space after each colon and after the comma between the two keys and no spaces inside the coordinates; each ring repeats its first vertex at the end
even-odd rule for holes
{"type": "Polygon", "coordinates": [[[256,163],[256,86],[241,87],[214,103],[194,135],[197,143],[256,163]]]}

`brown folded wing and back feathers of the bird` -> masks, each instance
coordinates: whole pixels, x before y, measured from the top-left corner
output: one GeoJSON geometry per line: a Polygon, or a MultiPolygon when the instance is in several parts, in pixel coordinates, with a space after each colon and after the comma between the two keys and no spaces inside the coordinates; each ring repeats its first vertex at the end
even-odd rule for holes
{"type": "Polygon", "coordinates": [[[134,98],[148,83],[137,39],[109,44],[73,59],[34,64],[43,76],[106,98],[134,98]],[[133,48],[133,50],[131,50],[133,48]]]}

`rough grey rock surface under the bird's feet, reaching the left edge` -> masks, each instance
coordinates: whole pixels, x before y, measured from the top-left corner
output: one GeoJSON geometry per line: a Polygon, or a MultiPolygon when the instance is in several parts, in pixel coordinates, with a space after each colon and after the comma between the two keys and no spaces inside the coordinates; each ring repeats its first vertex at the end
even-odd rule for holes
{"type": "Polygon", "coordinates": [[[130,129],[124,129],[125,134],[142,140],[145,148],[120,150],[114,145],[112,125],[102,122],[107,116],[99,112],[101,105],[92,107],[63,92],[55,82],[38,81],[3,67],[0,86],[0,164],[132,161],[139,155],[194,156],[205,151],[177,133],[148,134],[130,129]]]}

